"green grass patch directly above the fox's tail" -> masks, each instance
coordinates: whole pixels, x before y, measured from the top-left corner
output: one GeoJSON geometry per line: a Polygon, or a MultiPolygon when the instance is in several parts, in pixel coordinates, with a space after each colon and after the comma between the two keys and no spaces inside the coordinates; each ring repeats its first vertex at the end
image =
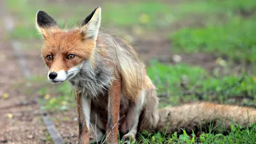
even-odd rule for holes
{"type": "MultiPolygon", "coordinates": [[[[189,66],[186,64],[163,65],[157,61],[152,61],[147,68],[148,76],[156,84],[158,93],[172,95],[168,98],[168,103],[179,104],[181,101],[198,100],[200,93],[204,100],[214,100],[225,102],[234,96],[252,95],[255,98],[255,76],[229,75],[212,76],[207,70],[201,67],[189,66]],[[182,86],[180,86],[182,84],[182,86]],[[230,88],[229,88],[230,87],[230,88]],[[184,95],[184,92],[189,94],[184,95]],[[211,96],[211,97],[210,97],[211,96]]],[[[165,99],[166,100],[166,99],[165,99]]],[[[253,102],[245,101],[247,104],[253,102]]],[[[241,104],[244,104],[241,101],[241,104]]]]}

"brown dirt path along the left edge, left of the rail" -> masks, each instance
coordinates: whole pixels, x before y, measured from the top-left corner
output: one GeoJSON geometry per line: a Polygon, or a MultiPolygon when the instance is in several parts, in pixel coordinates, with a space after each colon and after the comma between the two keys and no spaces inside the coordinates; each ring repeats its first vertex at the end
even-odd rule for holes
{"type": "MultiPolygon", "coordinates": [[[[3,2],[0,5],[1,14],[3,14],[3,2]]],[[[6,17],[0,16],[3,20],[0,26],[0,143],[51,143],[42,121],[42,111],[34,101],[35,97],[24,95],[22,88],[15,87],[20,83],[26,86],[24,76],[29,75],[30,70],[29,68],[20,69],[19,64],[24,61],[15,55],[12,48],[13,44],[17,43],[4,40],[4,36],[8,35],[7,30],[10,30],[8,26],[12,23],[8,25],[6,17]]],[[[25,55],[33,58],[35,52],[26,52],[25,55]]],[[[29,67],[35,67],[38,61],[34,60],[29,65],[29,67]]],[[[24,67],[24,65],[21,66],[24,67]]],[[[36,68],[42,69],[40,66],[36,68]]]]}

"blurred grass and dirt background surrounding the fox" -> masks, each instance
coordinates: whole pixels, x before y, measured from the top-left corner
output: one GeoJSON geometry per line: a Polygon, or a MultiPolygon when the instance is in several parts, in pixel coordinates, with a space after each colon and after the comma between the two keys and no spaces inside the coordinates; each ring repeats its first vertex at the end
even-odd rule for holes
{"type": "Polygon", "coordinates": [[[74,93],[68,83],[48,83],[40,60],[38,10],[71,28],[100,6],[101,28],[129,40],[145,61],[159,108],[198,100],[255,106],[255,0],[1,0],[0,5],[0,143],[24,138],[52,143],[36,98],[61,137],[77,140],[74,93]]]}

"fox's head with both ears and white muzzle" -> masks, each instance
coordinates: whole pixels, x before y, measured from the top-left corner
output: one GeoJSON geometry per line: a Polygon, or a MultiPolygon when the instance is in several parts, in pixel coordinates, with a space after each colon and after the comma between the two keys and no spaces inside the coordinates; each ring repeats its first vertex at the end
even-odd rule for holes
{"type": "Polygon", "coordinates": [[[36,28],[44,38],[41,56],[49,68],[51,83],[58,84],[76,76],[83,62],[93,60],[100,28],[101,8],[93,10],[79,28],[62,30],[44,11],[36,13],[36,28]]]}

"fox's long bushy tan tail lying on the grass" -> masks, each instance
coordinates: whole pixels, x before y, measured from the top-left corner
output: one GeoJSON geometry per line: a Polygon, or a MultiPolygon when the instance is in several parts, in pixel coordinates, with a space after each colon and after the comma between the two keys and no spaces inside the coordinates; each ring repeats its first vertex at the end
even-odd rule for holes
{"type": "Polygon", "coordinates": [[[195,134],[201,131],[225,132],[230,130],[231,124],[246,127],[254,124],[255,119],[256,109],[253,108],[198,102],[160,109],[156,131],[164,134],[175,131],[182,134],[182,129],[188,133],[193,130],[195,134]]]}

